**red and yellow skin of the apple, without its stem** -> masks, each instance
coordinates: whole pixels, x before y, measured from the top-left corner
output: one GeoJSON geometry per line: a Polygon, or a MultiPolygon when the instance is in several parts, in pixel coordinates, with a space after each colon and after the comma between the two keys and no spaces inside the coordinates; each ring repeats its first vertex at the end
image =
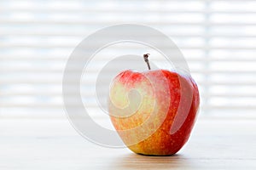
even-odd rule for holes
{"type": "Polygon", "coordinates": [[[167,70],[122,71],[113,78],[109,98],[108,111],[120,138],[130,150],[147,156],[171,156],[177,153],[189,139],[200,103],[199,91],[192,77],[167,70]],[[160,77],[160,74],[163,76],[160,77]],[[147,77],[154,79],[148,81],[147,77]],[[151,83],[157,88],[153,89],[151,83]],[[129,113],[131,109],[116,110],[114,107],[125,108],[125,105],[129,105],[129,100],[136,100],[133,99],[136,96],[127,97],[131,89],[136,89],[143,95],[139,109],[133,114],[129,113]],[[170,93],[166,93],[167,91],[170,93]],[[157,122],[154,119],[153,125],[151,123],[143,126],[141,130],[132,131],[148,119],[154,107],[157,107],[156,116],[162,116],[162,112],[167,111],[160,126],[154,127],[154,122],[157,122]],[[174,124],[177,129],[171,133],[174,124]],[[122,133],[125,130],[128,130],[127,133],[122,133]],[[151,135],[147,138],[136,140],[138,136],[149,131],[151,135]]]}

